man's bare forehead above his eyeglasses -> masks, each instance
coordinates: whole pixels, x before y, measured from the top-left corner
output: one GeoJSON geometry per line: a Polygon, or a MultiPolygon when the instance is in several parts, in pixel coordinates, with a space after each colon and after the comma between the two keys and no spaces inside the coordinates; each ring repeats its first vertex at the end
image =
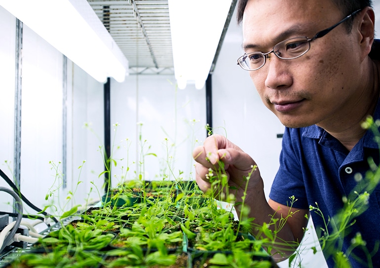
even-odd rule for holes
{"type": "Polygon", "coordinates": [[[270,46],[297,35],[311,37],[341,16],[331,0],[248,0],[242,21],[243,47],[270,46]]]}

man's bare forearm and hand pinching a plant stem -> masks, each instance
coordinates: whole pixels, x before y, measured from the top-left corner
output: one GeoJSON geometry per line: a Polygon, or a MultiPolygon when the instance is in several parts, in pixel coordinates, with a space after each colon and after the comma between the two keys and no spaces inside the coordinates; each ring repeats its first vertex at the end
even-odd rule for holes
{"type": "MultiPolygon", "coordinates": [[[[218,161],[222,161],[225,164],[224,169],[228,176],[228,186],[237,188],[236,202],[242,200],[241,197],[243,196],[246,182],[244,178],[248,176],[252,171],[252,167],[256,165],[255,161],[247,153],[244,153],[225,137],[212,135],[205,140],[203,146],[195,148],[193,157],[196,161],[195,180],[202,191],[207,191],[207,189],[210,188],[210,183],[206,177],[209,168],[218,168],[218,161]]],[[[248,216],[255,218],[255,225],[262,226],[264,223],[270,223],[272,216],[281,218],[282,215],[284,218],[288,213],[291,213],[291,217],[287,218],[285,225],[281,231],[277,233],[277,241],[296,242],[295,245],[301,242],[304,235],[304,227],[307,225],[307,219],[304,216],[308,213],[308,210],[290,208],[273,200],[266,201],[264,183],[258,169],[251,174],[246,193],[245,204],[250,207],[248,216]]],[[[239,215],[239,206],[235,206],[235,209],[237,215],[239,215]]],[[[276,226],[271,225],[271,229],[275,230],[276,226]]],[[[260,235],[260,231],[255,228],[253,232],[255,235],[260,235]]],[[[295,249],[296,248],[293,248],[293,250],[289,248],[284,249],[286,252],[282,252],[284,254],[283,256],[290,256],[295,249]]],[[[278,260],[283,258],[280,255],[273,257],[278,260]]]]}

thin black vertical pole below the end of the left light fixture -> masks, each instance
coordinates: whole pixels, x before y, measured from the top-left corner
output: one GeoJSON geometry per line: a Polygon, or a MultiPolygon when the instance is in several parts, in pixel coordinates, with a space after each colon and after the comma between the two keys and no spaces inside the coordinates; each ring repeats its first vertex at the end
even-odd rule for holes
{"type": "Polygon", "coordinates": [[[111,80],[107,78],[104,84],[104,190],[107,192],[111,188],[111,80]]]}

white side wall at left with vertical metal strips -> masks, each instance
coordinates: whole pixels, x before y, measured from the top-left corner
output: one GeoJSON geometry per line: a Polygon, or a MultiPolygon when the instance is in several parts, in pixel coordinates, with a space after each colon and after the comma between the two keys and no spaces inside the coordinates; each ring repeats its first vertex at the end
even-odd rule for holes
{"type": "MultiPolygon", "coordinates": [[[[15,32],[16,19],[0,7],[0,168],[11,179],[15,157],[15,32]]],[[[93,133],[83,128],[84,122],[93,122],[103,140],[103,84],[68,60],[68,168],[67,186],[64,187],[60,163],[63,158],[63,55],[27,25],[23,26],[22,46],[21,192],[39,208],[54,200],[57,208],[48,211],[62,212],[74,203],[85,202],[93,187],[91,181],[100,189],[103,185],[103,180],[98,178],[104,169],[102,157],[97,153],[99,142],[93,133]],[[79,170],[83,160],[89,160],[89,164],[85,163],[79,170]],[[50,161],[58,165],[57,177],[50,161]],[[82,183],[76,189],[78,180],[82,183]],[[75,192],[75,198],[67,202],[69,192],[75,192]],[[45,200],[49,193],[51,196],[45,200]]],[[[0,186],[9,188],[3,180],[0,186]]],[[[12,212],[13,198],[4,192],[0,194],[0,210],[12,212]]],[[[90,197],[98,199],[99,195],[93,192],[90,197]]],[[[24,210],[36,213],[26,205],[24,210]]]]}

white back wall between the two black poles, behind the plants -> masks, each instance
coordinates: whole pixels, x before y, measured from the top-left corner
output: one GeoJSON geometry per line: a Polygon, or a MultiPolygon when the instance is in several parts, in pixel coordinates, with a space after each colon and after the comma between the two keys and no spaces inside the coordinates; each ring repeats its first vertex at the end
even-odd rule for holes
{"type": "Polygon", "coordinates": [[[136,178],[140,169],[146,180],[192,178],[191,153],[196,140],[206,136],[204,89],[178,89],[170,75],[132,75],[123,83],[113,81],[111,99],[111,122],[119,124],[112,134],[118,162],[113,186],[136,178]],[[147,153],[156,156],[142,158],[147,153]],[[122,178],[127,167],[130,171],[122,178]]]}

